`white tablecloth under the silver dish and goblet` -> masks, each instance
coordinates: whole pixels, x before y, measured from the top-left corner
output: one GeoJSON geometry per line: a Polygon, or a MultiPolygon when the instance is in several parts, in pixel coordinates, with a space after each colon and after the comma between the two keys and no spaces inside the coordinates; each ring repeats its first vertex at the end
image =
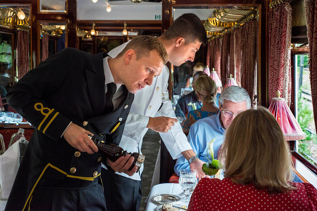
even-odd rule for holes
{"type": "MultiPolygon", "coordinates": [[[[162,183],[162,184],[154,185],[150,194],[148,195],[146,199],[146,202],[147,202],[146,209],[145,209],[146,211],[156,210],[156,207],[159,206],[159,204],[151,200],[151,196],[156,194],[172,194],[172,195],[178,195],[179,197],[183,198],[184,189],[178,183],[162,183]]],[[[176,202],[175,204],[188,206],[188,203],[189,202],[183,202],[181,200],[176,202]]]]}

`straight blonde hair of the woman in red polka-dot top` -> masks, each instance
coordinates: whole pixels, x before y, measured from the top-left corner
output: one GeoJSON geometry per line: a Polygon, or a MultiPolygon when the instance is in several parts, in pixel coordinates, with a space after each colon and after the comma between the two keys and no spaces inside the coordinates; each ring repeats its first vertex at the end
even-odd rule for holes
{"type": "Polygon", "coordinates": [[[289,147],[274,116],[257,107],[237,115],[225,133],[224,177],[238,184],[253,183],[269,192],[296,189],[292,183],[289,147]]]}

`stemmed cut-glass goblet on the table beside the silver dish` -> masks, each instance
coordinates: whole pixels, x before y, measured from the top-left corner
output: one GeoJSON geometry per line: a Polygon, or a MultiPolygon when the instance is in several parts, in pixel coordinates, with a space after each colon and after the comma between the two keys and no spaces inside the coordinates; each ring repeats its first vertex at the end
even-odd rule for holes
{"type": "Polygon", "coordinates": [[[189,189],[194,187],[197,183],[196,172],[197,171],[193,169],[182,169],[179,171],[178,183],[185,189],[185,197],[182,198],[184,202],[189,202],[189,189]]]}

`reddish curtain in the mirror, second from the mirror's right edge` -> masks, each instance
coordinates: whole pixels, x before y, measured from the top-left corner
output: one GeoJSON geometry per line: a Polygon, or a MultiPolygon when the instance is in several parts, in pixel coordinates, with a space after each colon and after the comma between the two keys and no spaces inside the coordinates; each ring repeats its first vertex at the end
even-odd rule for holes
{"type": "Polygon", "coordinates": [[[230,36],[230,74],[241,86],[241,42],[240,28],[232,29],[230,36]]]}

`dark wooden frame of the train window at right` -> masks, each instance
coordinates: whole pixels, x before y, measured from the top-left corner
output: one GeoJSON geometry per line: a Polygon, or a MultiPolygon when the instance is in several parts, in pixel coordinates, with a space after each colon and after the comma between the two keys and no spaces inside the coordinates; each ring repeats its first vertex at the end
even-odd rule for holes
{"type": "MultiPolygon", "coordinates": [[[[309,48],[294,48],[291,49],[291,83],[292,83],[292,91],[291,91],[291,106],[290,109],[294,116],[296,116],[296,105],[295,105],[295,95],[296,95],[296,82],[295,82],[295,56],[301,54],[308,54],[309,48]]],[[[306,158],[301,156],[298,152],[295,151],[295,141],[289,141],[289,146],[291,149],[292,156],[301,162],[308,170],[312,171],[314,175],[317,177],[317,167],[310,163],[306,158]]],[[[295,166],[296,167],[296,166],[295,166]]],[[[302,174],[301,172],[299,172],[302,174]]]]}

